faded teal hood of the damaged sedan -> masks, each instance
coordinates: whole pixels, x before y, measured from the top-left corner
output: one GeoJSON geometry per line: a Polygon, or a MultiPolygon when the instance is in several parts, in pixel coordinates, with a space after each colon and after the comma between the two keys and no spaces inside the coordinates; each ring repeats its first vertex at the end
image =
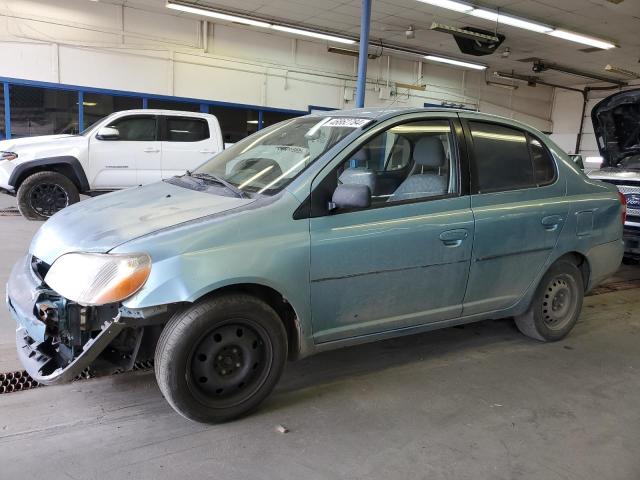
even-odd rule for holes
{"type": "Polygon", "coordinates": [[[255,200],[153,183],[72,205],[40,227],[29,249],[46,263],[69,252],[108,252],[134,238],[255,200]]]}

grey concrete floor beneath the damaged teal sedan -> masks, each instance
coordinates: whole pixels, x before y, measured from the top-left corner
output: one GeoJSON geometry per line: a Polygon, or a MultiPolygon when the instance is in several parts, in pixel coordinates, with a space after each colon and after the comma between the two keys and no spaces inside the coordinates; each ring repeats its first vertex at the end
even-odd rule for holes
{"type": "MultiPolygon", "coordinates": [[[[0,217],[0,281],[36,227],[0,217]]],[[[0,478],[637,479],[638,292],[588,297],[553,344],[503,320],[321,354],[218,426],[175,414],[151,373],[0,395],[0,478]]]]}

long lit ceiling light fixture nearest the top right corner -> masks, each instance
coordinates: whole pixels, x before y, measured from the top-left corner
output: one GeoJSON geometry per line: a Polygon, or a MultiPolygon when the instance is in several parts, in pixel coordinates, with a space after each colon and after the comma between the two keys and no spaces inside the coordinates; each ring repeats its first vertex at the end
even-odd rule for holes
{"type": "Polygon", "coordinates": [[[498,10],[492,10],[489,8],[478,8],[467,2],[458,2],[458,1],[451,1],[451,0],[418,0],[418,1],[422,3],[426,3],[428,5],[433,5],[434,7],[446,8],[447,10],[453,10],[455,12],[472,15],[474,17],[489,20],[491,22],[498,22],[499,24],[501,23],[504,25],[522,28],[522,29],[530,30],[537,33],[544,33],[546,35],[551,35],[556,38],[562,38],[570,42],[582,43],[584,45],[601,48],[603,50],[608,50],[610,48],[615,48],[617,46],[615,43],[609,42],[607,40],[590,37],[588,35],[582,35],[576,32],[570,32],[568,30],[556,28],[552,25],[545,25],[543,23],[534,22],[531,20],[527,20],[526,18],[521,18],[515,15],[508,15],[498,10]]]}

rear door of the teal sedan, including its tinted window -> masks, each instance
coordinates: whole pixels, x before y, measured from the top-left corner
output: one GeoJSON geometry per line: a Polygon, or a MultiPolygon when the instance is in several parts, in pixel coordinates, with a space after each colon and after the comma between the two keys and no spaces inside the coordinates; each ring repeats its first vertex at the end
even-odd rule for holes
{"type": "Polygon", "coordinates": [[[566,217],[566,185],[529,132],[463,120],[471,158],[475,239],[464,315],[508,308],[532,286],[566,217]]]}

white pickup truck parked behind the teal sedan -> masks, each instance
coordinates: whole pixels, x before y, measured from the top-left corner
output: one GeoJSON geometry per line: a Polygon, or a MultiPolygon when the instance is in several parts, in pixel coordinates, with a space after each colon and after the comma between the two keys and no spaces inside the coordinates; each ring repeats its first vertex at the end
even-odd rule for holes
{"type": "Polygon", "coordinates": [[[156,182],[196,168],[224,148],[218,120],[206,113],[126,110],[80,135],[0,141],[0,190],[20,213],[50,217],[80,193],[156,182]]]}

